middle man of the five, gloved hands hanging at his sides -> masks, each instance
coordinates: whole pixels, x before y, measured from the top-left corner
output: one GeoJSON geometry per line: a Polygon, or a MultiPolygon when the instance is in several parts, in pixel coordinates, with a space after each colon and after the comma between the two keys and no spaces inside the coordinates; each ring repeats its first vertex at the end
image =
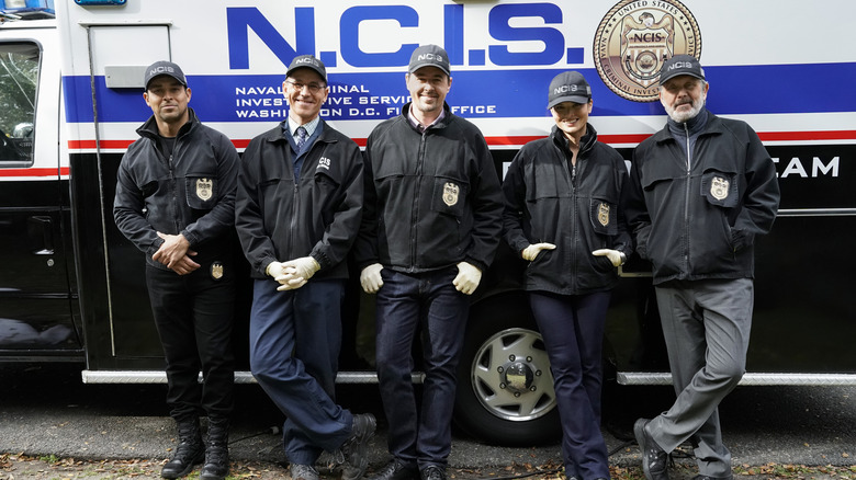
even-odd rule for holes
{"type": "Polygon", "coordinates": [[[446,103],[449,73],[446,50],[416,48],[405,76],[412,102],[379,124],[365,147],[354,256],[363,289],[378,294],[378,377],[393,456],[376,480],[446,479],[470,295],[499,243],[494,161],[478,128],[446,103]],[[420,333],[427,342],[421,402],[410,379],[420,333]]]}

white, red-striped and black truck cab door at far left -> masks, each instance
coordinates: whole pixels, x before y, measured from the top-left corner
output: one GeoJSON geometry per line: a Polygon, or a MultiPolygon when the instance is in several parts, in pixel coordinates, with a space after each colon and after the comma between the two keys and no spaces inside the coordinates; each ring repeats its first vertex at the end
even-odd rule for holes
{"type": "MultiPolygon", "coordinates": [[[[29,22],[15,22],[29,23],[29,22]]],[[[0,30],[0,359],[82,359],[53,27],[0,30]]]]}

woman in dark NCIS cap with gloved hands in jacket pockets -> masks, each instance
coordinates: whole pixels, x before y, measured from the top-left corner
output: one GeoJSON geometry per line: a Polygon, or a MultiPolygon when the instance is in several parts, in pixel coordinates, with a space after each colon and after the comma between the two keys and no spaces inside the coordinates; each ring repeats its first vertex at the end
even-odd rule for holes
{"type": "Polygon", "coordinates": [[[627,167],[588,123],[592,88],[579,72],[555,76],[547,99],[550,136],[526,144],[503,181],[503,233],[530,262],[523,287],[553,373],[565,477],[608,479],[601,345],[617,267],[631,253],[619,209],[627,167]]]}

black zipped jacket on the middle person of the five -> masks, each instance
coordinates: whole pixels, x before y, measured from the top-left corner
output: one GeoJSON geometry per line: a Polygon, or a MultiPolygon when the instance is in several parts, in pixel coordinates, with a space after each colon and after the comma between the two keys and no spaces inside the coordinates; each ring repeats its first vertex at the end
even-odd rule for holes
{"type": "Polygon", "coordinates": [[[478,128],[443,107],[423,134],[408,103],[369,136],[360,267],[417,273],[466,261],[485,271],[493,261],[503,212],[493,157],[478,128]]]}

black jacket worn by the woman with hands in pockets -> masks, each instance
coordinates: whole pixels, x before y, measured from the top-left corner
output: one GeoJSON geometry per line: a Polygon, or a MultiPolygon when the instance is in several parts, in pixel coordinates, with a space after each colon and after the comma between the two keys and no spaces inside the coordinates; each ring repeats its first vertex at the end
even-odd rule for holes
{"type": "Polygon", "coordinates": [[[581,139],[575,169],[567,139],[556,127],[550,137],[520,149],[503,182],[505,240],[518,255],[532,243],[556,245],[542,250],[527,266],[527,290],[581,295],[616,285],[617,268],[592,252],[631,253],[630,233],[619,209],[627,178],[624,159],[597,141],[590,124],[581,139]]]}

